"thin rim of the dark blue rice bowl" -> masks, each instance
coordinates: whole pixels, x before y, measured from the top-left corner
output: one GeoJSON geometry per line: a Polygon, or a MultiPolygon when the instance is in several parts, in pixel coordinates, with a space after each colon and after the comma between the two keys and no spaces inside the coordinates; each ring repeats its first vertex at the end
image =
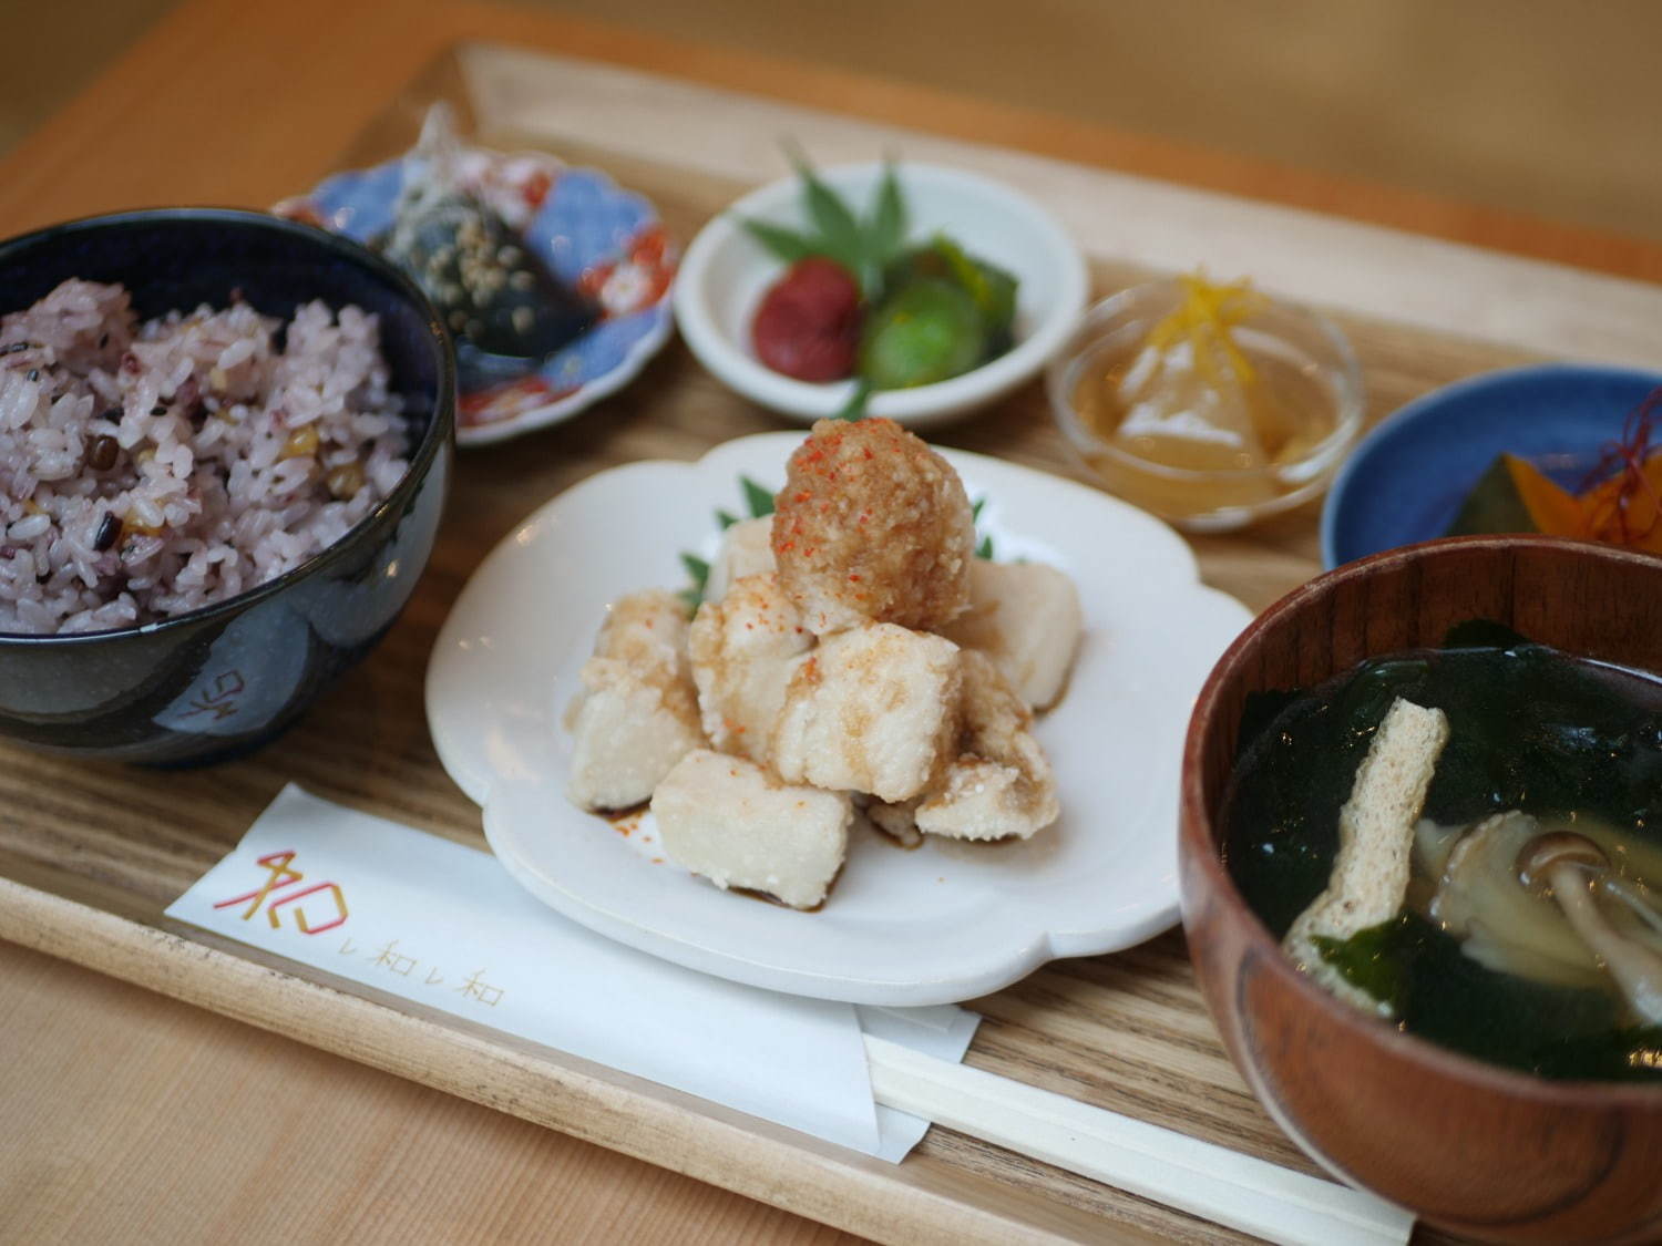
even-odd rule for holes
{"type": "MultiPolygon", "coordinates": [[[[150,636],[170,628],[184,628],[209,623],[219,616],[239,615],[258,601],[274,596],[314,571],[322,570],[329,563],[344,558],[351,547],[356,547],[366,532],[377,527],[392,517],[397,508],[409,503],[411,495],[414,495],[417,487],[432,470],[432,464],[439,455],[439,445],[455,439],[455,352],[450,347],[450,337],[439,322],[439,314],[434,311],[432,302],[427,301],[427,296],[420,292],[420,287],[416,286],[416,282],[411,281],[396,264],[382,259],[361,243],[354,243],[352,239],[339,234],[331,234],[327,229],[317,229],[316,226],[288,221],[279,216],[271,216],[269,213],[251,211],[246,208],[135,208],[120,213],[100,213],[96,216],[80,216],[71,221],[60,221],[58,224],[48,224],[42,229],[32,229],[27,234],[17,234],[15,238],[0,241],[0,281],[5,277],[5,266],[15,259],[18,253],[25,253],[47,241],[58,239],[65,234],[98,233],[106,229],[118,231],[158,221],[184,221],[204,226],[253,226],[256,229],[271,229],[279,234],[289,234],[296,239],[317,244],[321,251],[331,253],[337,259],[344,259],[367,269],[372,276],[381,277],[386,284],[392,286],[409,304],[416,307],[416,311],[420,312],[427,327],[427,336],[439,351],[439,392],[434,394],[432,419],[427,420],[427,427],[422,430],[419,444],[411,450],[409,467],[404,468],[404,475],[399,478],[397,485],[394,485],[381,503],[364,515],[364,518],[341,533],[339,538],[317,550],[317,553],[311,555],[299,567],[291,567],[288,571],[258,583],[253,588],[246,588],[234,596],[228,596],[223,601],[196,606],[194,610],[186,610],[184,613],[173,615],[171,618],[158,618],[150,623],[138,623],[125,628],[105,628],[101,631],[71,631],[68,635],[0,631],[0,646],[45,645],[57,648],[91,645],[118,636],[150,636]]],[[[10,312],[0,311],[0,314],[10,312]]]]}

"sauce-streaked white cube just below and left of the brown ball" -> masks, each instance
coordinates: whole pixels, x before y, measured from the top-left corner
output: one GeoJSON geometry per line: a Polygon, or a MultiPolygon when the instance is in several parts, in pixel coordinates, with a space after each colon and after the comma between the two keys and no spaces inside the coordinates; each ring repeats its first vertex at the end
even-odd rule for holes
{"type": "Polygon", "coordinates": [[[784,689],[813,643],[773,573],[741,576],[698,608],[688,656],[713,748],[768,761],[784,689]]]}

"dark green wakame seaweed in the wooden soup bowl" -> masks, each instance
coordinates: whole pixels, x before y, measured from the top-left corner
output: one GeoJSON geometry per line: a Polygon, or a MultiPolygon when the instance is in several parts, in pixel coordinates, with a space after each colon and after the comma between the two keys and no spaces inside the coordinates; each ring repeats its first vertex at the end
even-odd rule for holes
{"type": "MultiPolygon", "coordinates": [[[[1278,939],[1328,885],[1340,807],[1398,696],[1449,719],[1424,817],[1591,816],[1662,847],[1662,679],[1466,625],[1448,648],[1373,658],[1318,688],[1248,699],[1223,854],[1278,939]]],[[[1662,1082],[1662,1028],[1635,1027],[1614,990],[1487,969],[1408,909],[1368,934],[1404,1030],[1544,1077],[1662,1082]]]]}

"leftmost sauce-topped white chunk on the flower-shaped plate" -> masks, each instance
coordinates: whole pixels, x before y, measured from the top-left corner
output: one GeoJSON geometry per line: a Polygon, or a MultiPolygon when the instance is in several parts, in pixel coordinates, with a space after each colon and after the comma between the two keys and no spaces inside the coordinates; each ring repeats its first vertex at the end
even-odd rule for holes
{"type": "Polygon", "coordinates": [[[628,809],[705,743],[686,658],[686,608],[675,593],[618,598],[565,713],[575,736],[567,796],[583,809],[628,809]]]}

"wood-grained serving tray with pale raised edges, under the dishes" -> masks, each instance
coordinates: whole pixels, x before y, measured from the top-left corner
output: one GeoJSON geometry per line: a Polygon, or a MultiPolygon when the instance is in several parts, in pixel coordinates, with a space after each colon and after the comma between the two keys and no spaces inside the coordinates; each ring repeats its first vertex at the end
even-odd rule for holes
{"type": "MultiPolygon", "coordinates": [[[[1458,377],[1549,354],[1644,359],[1662,321],[1662,291],[1635,282],[492,47],[462,47],[430,66],[337,164],[406,146],[439,96],[497,146],[545,146],[607,168],[653,198],[681,239],[746,186],[783,173],[783,135],[823,163],[894,150],[982,168],[1067,219],[1092,254],[1099,292],[1150,267],[1207,261],[1326,306],[1358,349],[1373,417],[1458,377]]],[[[949,1130],[932,1130],[904,1165],[868,1160],[161,917],[291,779],[482,844],[479,811],[439,768],[422,706],[427,655],[474,565],[527,512],[602,467],[695,459],[776,427],[671,344],[627,392],[578,419],[465,452],[404,618],[258,756],[151,773],[0,744],[0,937],[883,1241],[1238,1239],[949,1130]]],[[[1037,385],[939,440],[1080,475],[1037,385]]],[[[1315,522],[1306,508],[1245,537],[1195,540],[1207,581],[1263,608],[1318,570],[1315,522]]],[[[971,1007],[987,1018],[969,1055],[976,1067],[1316,1171],[1225,1058],[1177,932],[1050,965],[971,1007]]]]}

